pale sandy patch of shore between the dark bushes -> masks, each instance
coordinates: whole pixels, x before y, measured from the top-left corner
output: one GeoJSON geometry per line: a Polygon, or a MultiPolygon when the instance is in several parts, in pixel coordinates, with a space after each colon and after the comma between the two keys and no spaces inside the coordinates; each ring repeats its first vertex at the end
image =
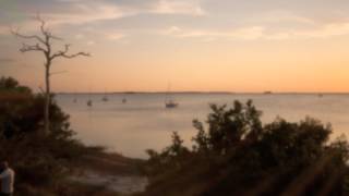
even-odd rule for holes
{"type": "Polygon", "coordinates": [[[148,185],[140,169],[144,161],[115,152],[92,152],[75,162],[68,181],[122,195],[141,193],[148,185]]]}

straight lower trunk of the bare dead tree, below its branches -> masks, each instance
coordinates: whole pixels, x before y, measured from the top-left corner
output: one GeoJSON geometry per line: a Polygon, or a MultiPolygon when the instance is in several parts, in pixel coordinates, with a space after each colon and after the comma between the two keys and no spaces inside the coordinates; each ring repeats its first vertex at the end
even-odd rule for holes
{"type": "Polygon", "coordinates": [[[45,65],[45,85],[46,85],[46,91],[45,91],[45,112],[44,112],[44,132],[45,134],[49,133],[50,128],[50,102],[51,102],[51,96],[50,96],[50,63],[48,62],[45,65]]]}

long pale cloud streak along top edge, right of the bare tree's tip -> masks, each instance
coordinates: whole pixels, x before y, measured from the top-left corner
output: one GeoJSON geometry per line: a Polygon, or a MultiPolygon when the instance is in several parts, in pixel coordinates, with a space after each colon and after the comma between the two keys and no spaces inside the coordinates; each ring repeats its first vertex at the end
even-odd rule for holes
{"type": "Polygon", "coordinates": [[[106,1],[83,2],[79,0],[69,0],[69,2],[74,12],[47,13],[45,14],[45,17],[56,24],[84,24],[96,21],[118,20],[140,14],[205,14],[205,11],[194,0],[158,0],[154,4],[143,7],[120,5],[106,1]]]}

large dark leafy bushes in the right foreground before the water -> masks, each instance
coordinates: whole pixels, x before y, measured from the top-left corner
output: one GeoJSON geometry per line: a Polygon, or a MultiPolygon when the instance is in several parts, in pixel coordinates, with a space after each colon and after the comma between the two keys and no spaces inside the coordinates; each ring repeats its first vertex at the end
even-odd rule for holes
{"type": "Polygon", "coordinates": [[[177,133],[163,151],[147,150],[143,195],[348,195],[348,144],[329,142],[330,125],[305,118],[277,118],[263,125],[251,100],[232,108],[210,106],[194,146],[177,133]]]}

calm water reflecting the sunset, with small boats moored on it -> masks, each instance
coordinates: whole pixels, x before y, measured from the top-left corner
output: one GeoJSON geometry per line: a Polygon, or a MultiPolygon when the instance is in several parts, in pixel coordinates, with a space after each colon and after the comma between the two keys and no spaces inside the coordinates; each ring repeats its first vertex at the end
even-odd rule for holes
{"type": "Polygon", "coordinates": [[[253,99],[263,111],[263,122],[277,115],[289,121],[313,117],[334,127],[332,138],[349,131],[349,95],[239,95],[239,94],[174,94],[180,103],[177,109],[165,109],[164,94],[115,94],[109,101],[103,95],[58,95],[58,103],[71,115],[76,137],[89,145],[103,145],[130,157],[145,158],[145,149],[163,149],[170,143],[173,131],[180,133],[185,145],[196,131],[192,120],[204,121],[208,103],[232,105],[238,99],[253,99]],[[125,97],[128,102],[122,103],[125,97]],[[73,102],[76,98],[77,102],[73,102]],[[93,107],[86,101],[91,98],[93,107]]]}

